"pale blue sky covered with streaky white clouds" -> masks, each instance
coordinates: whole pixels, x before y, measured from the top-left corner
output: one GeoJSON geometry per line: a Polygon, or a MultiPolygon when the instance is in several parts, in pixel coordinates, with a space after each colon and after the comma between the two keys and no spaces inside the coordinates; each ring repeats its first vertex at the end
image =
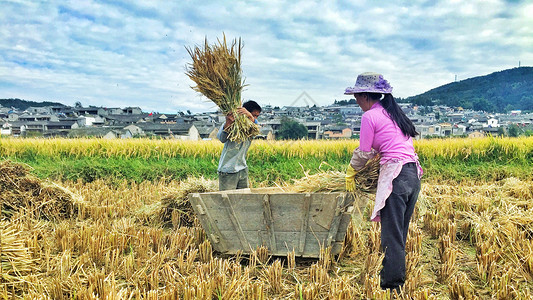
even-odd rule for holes
{"type": "Polygon", "coordinates": [[[358,74],[395,97],[533,65],[533,1],[0,0],[0,99],[215,111],[186,47],[240,38],[242,99],[324,106],[358,74]]]}

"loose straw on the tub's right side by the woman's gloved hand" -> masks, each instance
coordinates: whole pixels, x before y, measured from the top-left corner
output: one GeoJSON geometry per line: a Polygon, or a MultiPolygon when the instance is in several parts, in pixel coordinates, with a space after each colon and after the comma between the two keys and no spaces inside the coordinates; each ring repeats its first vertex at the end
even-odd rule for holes
{"type": "MultiPolygon", "coordinates": [[[[366,165],[355,175],[355,188],[358,192],[373,193],[376,191],[379,177],[378,154],[370,159],[366,165]]],[[[339,171],[320,172],[294,181],[291,189],[299,193],[330,193],[346,191],[346,174],[339,171]]]]}

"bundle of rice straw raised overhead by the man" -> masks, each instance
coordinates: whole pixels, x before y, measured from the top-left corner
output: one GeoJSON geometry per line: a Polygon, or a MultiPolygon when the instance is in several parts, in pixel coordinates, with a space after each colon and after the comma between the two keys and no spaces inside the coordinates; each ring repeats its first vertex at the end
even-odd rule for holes
{"type": "Polygon", "coordinates": [[[226,36],[209,46],[207,38],[204,48],[188,48],[192,63],[187,67],[187,76],[196,83],[193,90],[213,101],[223,114],[233,114],[235,122],[228,128],[228,139],[241,142],[259,133],[259,127],[245,115],[237,113],[242,105],[241,91],[244,88],[241,70],[242,43],[233,40],[230,47],[226,36]]]}

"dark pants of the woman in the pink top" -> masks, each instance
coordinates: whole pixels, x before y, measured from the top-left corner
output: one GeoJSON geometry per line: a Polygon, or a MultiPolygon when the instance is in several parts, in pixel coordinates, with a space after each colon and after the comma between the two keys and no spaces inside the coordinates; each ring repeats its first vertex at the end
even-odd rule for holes
{"type": "Polygon", "coordinates": [[[380,211],[381,247],[385,250],[380,275],[382,289],[398,290],[405,283],[405,242],[420,192],[416,164],[403,165],[392,185],[392,193],[380,211]]]}

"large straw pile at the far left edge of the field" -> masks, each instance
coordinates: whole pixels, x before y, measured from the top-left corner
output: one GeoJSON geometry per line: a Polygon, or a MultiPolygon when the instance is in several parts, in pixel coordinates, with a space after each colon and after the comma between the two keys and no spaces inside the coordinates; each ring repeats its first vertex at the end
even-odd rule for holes
{"type": "Polygon", "coordinates": [[[0,218],[10,219],[20,212],[36,219],[57,220],[77,212],[80,196],[55,183],[43,183],[29,171],[24,164],[0,163],[0,218]]]}

